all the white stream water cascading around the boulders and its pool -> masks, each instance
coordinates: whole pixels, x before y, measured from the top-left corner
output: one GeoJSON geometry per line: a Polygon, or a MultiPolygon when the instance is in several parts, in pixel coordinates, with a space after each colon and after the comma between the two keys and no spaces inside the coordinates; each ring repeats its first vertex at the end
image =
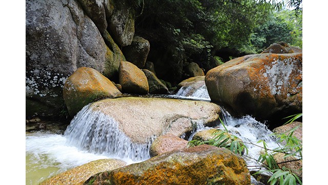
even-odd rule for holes
{"type": "MultiPolygon", "coordinates": [[[[192,96],[185,97],[188,90],[190,89],[180,89],[176,95],[163,97],[211,101],[206,86],[194,91],[192,96]]],[[[243,141],[257,144],[258,140],[264,140],[269,148],[277,147],[275,138],[271,136],[272,132],[265,124],[251,116],[233,118],[224,109],[222,113],[228,130],[243,141]]],[[[209,129],[201,123],[196,124],[194,133],[209,129]]],[[[192,136],[185,139],[191,140],[192,136]]],[[[128,164],[147,160],[150,158],[149,146],[154,139],[146,144],[133,143],[118,130],[118,124],[113,118],[92,112],[89,106],[85,106],[71,121],[64,135],[26,133],[26,184],[38,184],[53,175],[97,159],[115,158],[128,164]]],[[[248,156],[257,159],[260,147],[246,145],[249,149],[248,156]]],[[[245,160],[249,166],[256,165],[255,160],[245,160]]]]}

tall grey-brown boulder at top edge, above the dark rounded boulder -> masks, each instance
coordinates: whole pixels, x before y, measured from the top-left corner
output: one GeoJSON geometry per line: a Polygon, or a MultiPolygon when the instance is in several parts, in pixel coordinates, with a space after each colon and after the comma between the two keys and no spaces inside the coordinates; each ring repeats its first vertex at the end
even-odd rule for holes
{"type": "Polygon", "coordinates": [[[114,41],[120,46],[128,46],[134,36],[135,11],[125,1],[115,1],[114,10],[108,22],[108,29],[113,35],[114,41]]]}

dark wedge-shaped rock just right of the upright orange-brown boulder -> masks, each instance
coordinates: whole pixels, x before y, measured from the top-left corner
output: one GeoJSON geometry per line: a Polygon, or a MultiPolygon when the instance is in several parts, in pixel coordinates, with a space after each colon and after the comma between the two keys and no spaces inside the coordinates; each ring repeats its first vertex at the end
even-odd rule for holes
{"type": "Polygon", "coordinates": [[[168,87],[166,87],[165,84],[163,84],[153,73],[152,71],[148,69],[142,69],[144,71],[147,81],[148,81],[148,86],[149,86],[149,94],[161,94],[165,95],[169,93],[168,87]]]}

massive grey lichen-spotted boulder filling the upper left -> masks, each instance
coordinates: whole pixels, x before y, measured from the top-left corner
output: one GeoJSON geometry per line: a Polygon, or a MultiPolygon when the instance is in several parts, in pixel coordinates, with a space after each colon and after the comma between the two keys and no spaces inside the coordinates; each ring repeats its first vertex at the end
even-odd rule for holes
{"type": "Polygon", "coordinates": [[[76,1],[26,1],[25,28],[26,117],[58,118],[65,80],[78,67],[111,76],[108,46],[76,1]]]}

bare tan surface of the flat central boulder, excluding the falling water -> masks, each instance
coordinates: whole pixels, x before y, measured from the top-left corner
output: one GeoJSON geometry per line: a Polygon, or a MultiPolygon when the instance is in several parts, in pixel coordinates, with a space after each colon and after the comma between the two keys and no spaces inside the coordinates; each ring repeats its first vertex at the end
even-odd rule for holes
{"type": "Polygon", "coordinates": [[[214,103],[165,98],[121,97],[94,102],[90,108],[118,121],[119,129],[133,142],[153,136],[191,132],[197,122],[216,124],[220,107],[214,103]]]}

